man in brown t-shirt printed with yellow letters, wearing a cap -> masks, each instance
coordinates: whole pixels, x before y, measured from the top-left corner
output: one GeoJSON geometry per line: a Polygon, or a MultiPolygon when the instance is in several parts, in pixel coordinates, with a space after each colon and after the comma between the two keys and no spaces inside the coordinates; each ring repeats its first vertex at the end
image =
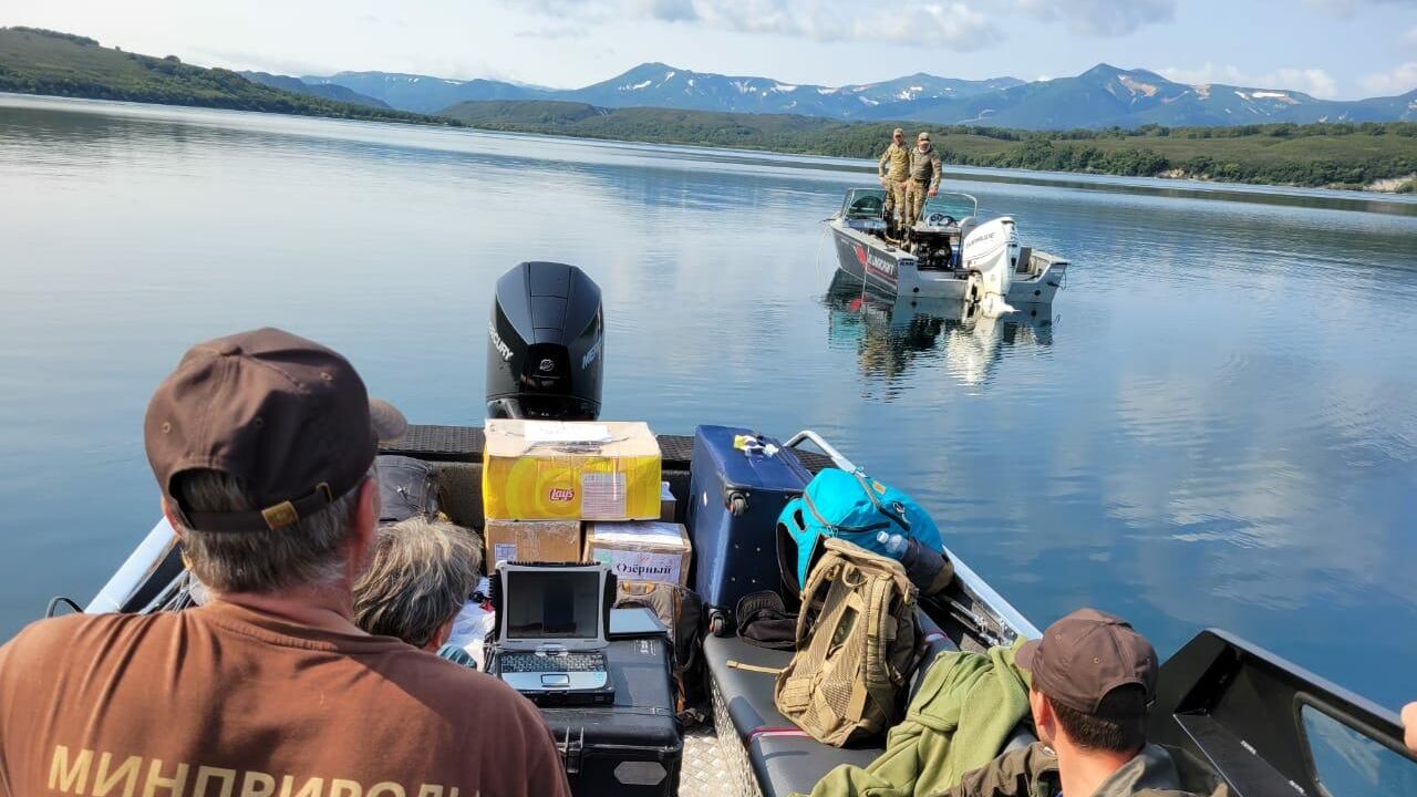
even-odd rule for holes
{"type": "Polygon", "coordinates": [[[45,620],[0,648],[0,796],[568,796],[530,702],[350,621],[377,440],[402,425],[309,340],[193,347],[145,441],[214,600],[45,620]]]}

